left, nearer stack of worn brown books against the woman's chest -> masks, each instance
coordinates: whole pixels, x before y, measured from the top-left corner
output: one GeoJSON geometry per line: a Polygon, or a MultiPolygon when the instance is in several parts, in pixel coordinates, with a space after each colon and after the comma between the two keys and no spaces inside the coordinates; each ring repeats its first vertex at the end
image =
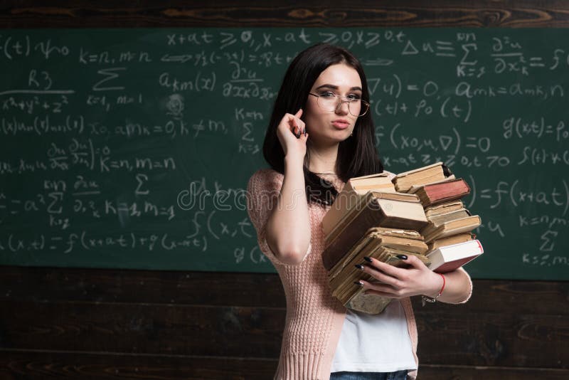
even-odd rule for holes
{"type": "MultiPolygon", "coordinates": [[[[345,187],[339,196],[344,190],[345,187]]],[[[326,234],[322,253],[332,294],[346,307],[378,314],[390,299],[363,295],[354,281],[365,273],[354,265],[365,263],[364,256],[395,266],[405,265],[397,255],[418,255],[427,263],[424,254],[428,247],[418,232],[429,223],[423,206],[415,194],[368,190],[353,198],[351,209],[337,215],[341,216],[326,234]]]]}

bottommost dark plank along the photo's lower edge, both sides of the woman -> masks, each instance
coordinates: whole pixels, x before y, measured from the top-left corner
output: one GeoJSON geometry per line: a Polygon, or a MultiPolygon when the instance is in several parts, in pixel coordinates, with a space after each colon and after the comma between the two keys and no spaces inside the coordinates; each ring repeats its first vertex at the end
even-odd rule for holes
{"type": "MultiPolygon", "coordinates": [[[[276,359],[141,356],[71,352],[0,351],[0,380],[65,379],[272,379],[276,359]]],[[[433,366],[419,368],[420,380],[565,380],[565,369],[433,366]]]]}

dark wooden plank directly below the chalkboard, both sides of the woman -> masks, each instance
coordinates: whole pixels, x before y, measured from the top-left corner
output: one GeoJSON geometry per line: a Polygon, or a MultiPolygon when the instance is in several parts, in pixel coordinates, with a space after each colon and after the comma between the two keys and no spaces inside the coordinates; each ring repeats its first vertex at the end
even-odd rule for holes
{"type": "MultiPolygon", "coordinates": [[[[285,307],[274,273],[26,268],[0,266],[0,300],[148,302],[177,305],[285,307]]],[[[420,306],[418,313],[569,315],[569,282],[474,280],[464,305],[420,306]]]]}

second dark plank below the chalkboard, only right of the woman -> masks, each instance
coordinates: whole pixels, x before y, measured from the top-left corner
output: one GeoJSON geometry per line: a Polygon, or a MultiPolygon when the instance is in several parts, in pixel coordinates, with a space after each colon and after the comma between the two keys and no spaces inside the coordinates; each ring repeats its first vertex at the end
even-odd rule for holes
{"type": "Polygon", "coordinates": [[[564,316],[477,313],[418,315],[418,356],[425,364],[569,369],[564,316]]]}

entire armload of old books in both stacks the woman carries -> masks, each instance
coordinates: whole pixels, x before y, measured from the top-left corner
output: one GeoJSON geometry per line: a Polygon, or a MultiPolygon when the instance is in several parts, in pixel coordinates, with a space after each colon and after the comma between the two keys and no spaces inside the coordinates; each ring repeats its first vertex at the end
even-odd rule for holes
{"type": "Polygon", "coordinates": [[[445,273],[484,251],[472,234],[481,221],[464,207],[470,188],[442,162],[405,171],[353,178],[336,196],[322,221],[332,295],[346,307],[382,312],[390,298],[364,295],[354,282],[373,278],[354,267],[369,256],[397,267],[397,255],[416,255],[432,270],[445,273]]]}

